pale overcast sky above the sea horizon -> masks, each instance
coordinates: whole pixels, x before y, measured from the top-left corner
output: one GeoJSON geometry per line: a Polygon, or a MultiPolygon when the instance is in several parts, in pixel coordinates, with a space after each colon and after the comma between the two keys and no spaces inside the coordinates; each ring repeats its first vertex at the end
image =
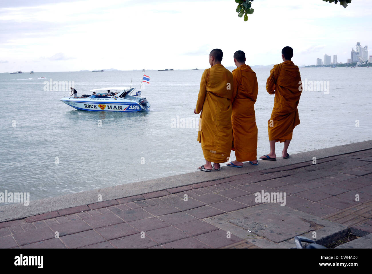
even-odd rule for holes
{"type": "Polygon", "coordinates": [[[214,48],[225,66],[237,50],[249,65],[270,65],[282,62],[284,46],[294,49],[295,64],[309,65],[324,54],[346,62],[356,42],[372,47],[371,0],[346,9],[255,0],[248,22],[236,7],[234,0],[1,0],[0,72],[207,68],[214,48]]]}

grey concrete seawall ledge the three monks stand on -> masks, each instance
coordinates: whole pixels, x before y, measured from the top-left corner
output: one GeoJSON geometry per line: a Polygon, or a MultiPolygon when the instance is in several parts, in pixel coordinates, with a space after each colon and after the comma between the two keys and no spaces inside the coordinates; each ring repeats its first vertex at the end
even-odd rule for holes
{"type": "Polygon", "coordinates": [[[312,161],[313,157],[321,159],[341,154],[363,151],[371,148],[372,140],[293,154],[288,159],[282,159],[281,157],[278,157],[277,161],[259,161],[259,165],[257,166],[245,163],[243,168],[230,168],[223,167],[222,165],[222,170],[218,172],[212,171],[211,173],[206,173],[197,171],[181,175],[169,176],[165,178],[157,178],[153,180],[129,183],[115,187],[83,191],[64,196],[32,201],[30,202],[29,206],[24,206],[20,203],[8,204],[0,207],[0,222],[22,219],[28,216],[65,209],[68,207],[96,203],[98,202],[97,197],[99,194],[102,195],[102,201],[119,199],[158,190],[165,190],[173,187],[219,180],[234,175],[253,173],[254,171],[258,170],[266,170],[298,164],[305,161],[312,161]]]}

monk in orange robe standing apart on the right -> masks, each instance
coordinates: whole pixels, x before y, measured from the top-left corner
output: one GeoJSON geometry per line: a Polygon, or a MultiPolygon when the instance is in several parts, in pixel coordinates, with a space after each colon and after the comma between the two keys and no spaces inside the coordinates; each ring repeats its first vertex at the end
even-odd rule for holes
{"type": "Polygon", "coordinates": [[[282,158],[289,157],[287,152],[295,126],[299,125],[297,106],[302,92],[301,75],[298,67],[291,61],[293,49],[282,49],[281,64],[275,65],[267,78],[266,90],[275,94],[274,107],[268,121],[270,153],[260,159],[276,160],[275,142],[284,142],[282,158]]]}

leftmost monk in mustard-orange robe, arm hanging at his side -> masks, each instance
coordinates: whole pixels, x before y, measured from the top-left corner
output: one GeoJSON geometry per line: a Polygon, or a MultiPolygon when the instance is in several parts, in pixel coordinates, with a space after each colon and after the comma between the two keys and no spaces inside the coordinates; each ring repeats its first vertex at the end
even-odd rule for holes
{"type": "Polygon", "coordinates": [[[202,143],[205,164],[202,171],[221,170],[220,163],[230,158],[232,144],[231,96],[232,73],[223,65],[221,49],[209,54],[209,64],[202,75],[195,114],[200,115],[198,141],[202,143]]]}

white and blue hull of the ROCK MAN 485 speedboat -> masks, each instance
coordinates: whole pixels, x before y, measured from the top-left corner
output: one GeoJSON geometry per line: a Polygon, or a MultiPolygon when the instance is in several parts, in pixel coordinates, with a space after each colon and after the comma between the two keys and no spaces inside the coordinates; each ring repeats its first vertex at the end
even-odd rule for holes
{"type": "Polygon", "coordinates": [[[142,106],[135,100],[98,101],[96,98],[62,98],[60,100],[74,109],[87,111],[141,112],[150,110],[150,106],[142,106]]]}

